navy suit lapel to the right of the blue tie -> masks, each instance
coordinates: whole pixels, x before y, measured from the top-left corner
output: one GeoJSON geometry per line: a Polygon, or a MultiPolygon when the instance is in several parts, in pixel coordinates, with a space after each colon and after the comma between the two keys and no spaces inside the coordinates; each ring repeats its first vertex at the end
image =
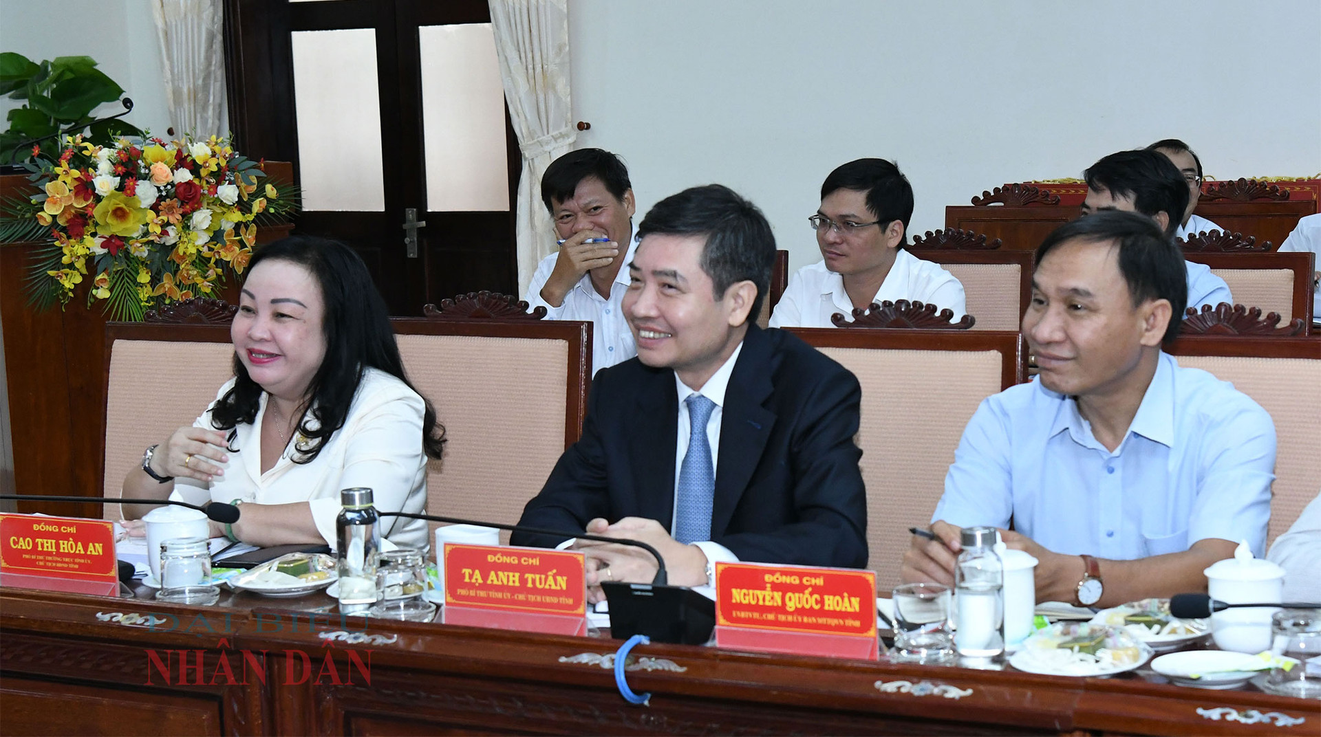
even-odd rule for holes
{"type": "MultiPolygon", "coordinates": [[[[729,376],[720,420],[720,462],[711,506],[711,536],[723,535],[733,518],[757,464],[761,461],[775,415],[762,407],[771,392],[770,338],[750,325],[742,351],[729,376]]],[[[672,453],[671,453],[672,454],[672,453]]]]}

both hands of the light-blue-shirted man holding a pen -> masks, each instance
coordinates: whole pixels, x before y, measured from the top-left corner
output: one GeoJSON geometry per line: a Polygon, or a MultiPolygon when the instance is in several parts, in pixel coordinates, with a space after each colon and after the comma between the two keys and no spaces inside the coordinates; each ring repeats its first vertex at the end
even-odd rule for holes
{"type": "MultiPolygon", "coordinates": [[[[905,582],[934,582],[954,586],[954,565],[963,547],[959,528],[937,520],[931,523],[935,540],[914,535],[904,552],[900,577],[905,582]]],[[[1073,601],[1078,581],[1083,576],[1082,559],[1075,555],[1052,552],[1032,538],[1012,530],[1000,530],[1005,547],[1024,551],[1037,559],[1037,601],[1073,601]]]]}

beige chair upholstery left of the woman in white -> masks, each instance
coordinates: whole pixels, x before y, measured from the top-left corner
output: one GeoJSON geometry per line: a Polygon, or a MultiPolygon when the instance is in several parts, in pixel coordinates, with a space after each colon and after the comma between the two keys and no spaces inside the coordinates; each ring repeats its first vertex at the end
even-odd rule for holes
{"type": "MultiPolygon", "coordinates": [[[[145,328],[161,334],[161,328],[145,328]]],[[[168,328],[165,328],[168,329],[168,328]]],[[[188,328],[197,330],[197,328],[188,328]]],[[[123,497],[124,477],[143,461],[143,450],[190,425],[234,376],[229,328],[222,342],[133,339],[111,345],[106,390],[103,494],[123,497]]],[[[120,519],[119,505],[106,505],[106,519],[120,519]]]]}

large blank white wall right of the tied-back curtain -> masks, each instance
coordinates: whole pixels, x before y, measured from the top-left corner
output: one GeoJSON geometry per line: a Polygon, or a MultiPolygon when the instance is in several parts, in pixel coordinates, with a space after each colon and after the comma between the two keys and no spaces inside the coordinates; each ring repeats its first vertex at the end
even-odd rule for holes
{"type": "Polygon", "coordinates": [[[621,155],[639,213],[720,182],[793,268],[831,169],[890,158],[910,234],[946,205],[1186,140],[1219,178],[1321,172],[1321,3],[569,0],[580,147],[621,155]]]}

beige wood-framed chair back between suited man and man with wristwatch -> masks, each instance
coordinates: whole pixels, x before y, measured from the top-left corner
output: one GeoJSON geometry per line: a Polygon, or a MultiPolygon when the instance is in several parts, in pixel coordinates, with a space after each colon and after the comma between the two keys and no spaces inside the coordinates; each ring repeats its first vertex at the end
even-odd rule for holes
{"type": "Polygon", "coordinates": [[[863,481],[868,568],[900,582],[908,528],[925,527],[945,493],[963,428],[987,396],[1022,380],[1017,333],[791,328],[863,387],[863,481]]]}

